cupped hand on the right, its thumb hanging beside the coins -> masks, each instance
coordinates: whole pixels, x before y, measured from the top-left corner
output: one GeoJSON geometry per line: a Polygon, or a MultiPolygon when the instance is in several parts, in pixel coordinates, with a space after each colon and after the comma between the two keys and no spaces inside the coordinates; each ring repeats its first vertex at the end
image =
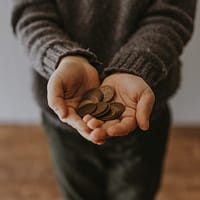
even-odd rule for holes
{"type": "Polygon", "coordinates": [[[107,137],[123,136],[133,131],[136,126],[142,130],[149,128],[149,118],[154,105],[155,96],[148,84],[140,77],[117,73],[108,76],[102,85],[109,85],[116,91],[116,102],[125,105],[125,111],[120,119],[102,123],[87,115],[83,119],[93,131],[90,138],[97,144],[104,143],[107,137]]]}

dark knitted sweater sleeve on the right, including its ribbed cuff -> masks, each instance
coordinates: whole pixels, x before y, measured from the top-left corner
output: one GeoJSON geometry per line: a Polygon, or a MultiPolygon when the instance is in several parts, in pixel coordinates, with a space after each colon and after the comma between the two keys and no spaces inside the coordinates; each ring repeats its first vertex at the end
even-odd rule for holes
{"type": "Polygon", "coordinates": [[[164,80],[193,32],[196,0],[155,0],[136,32],[114,55],[105,76],[128,72],[152,88],[164,80]]]}

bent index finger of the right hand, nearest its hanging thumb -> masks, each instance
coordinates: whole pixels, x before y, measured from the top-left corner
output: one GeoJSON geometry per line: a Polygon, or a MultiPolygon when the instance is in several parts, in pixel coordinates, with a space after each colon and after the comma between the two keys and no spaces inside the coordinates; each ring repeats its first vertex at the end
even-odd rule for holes
{"type": "Polygon", "coordinates": [[[127,135],[136,128],[134,117],[124,117],[120,122],[114,124],[107,130],[109,136],[127,135]]]}

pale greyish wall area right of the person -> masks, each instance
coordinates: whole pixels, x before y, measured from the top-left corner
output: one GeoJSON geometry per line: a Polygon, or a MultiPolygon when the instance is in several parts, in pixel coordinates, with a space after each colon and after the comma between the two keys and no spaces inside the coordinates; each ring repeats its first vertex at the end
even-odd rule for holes
{"type": "Polygon", "coordinates": [[[200,125],[200,2],[198,1],[195,31],[182,56],[182,84],[172,98],[176,124],[200,125]]]}

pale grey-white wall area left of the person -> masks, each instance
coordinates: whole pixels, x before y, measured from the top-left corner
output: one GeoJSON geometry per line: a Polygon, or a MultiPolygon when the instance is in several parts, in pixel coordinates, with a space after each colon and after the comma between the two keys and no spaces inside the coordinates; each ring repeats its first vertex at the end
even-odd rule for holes
{"type": "MultiPolygon", "coordinates": [[[[0,6],[0,122],[37,122],[29,62],[13,37],[11,1],[0,6]]],[[[1,2],[2,3],[2,2],[1,2]]]]}

